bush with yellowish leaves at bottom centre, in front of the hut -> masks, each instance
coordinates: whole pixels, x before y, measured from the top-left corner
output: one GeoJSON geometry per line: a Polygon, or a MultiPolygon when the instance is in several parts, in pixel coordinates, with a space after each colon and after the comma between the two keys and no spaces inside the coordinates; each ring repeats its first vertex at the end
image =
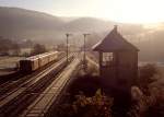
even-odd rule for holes
{"type": "Polygon", "coordinates": [[[57,110],[58,117],[112,117],[113,98],[102,95],[97,90],[95,95],[86,97],[82,92],[75,96],[72,104],[65,104],[57,110]]]}

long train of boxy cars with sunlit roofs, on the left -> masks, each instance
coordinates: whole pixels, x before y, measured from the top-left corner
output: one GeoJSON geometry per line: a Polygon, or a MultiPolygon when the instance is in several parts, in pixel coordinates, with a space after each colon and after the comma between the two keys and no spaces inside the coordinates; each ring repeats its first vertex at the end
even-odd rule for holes
{"type": "Polygon", "coordinates": [[[61,55],[63,55],[63,52],[51,51],[27,57],[25,59],[20,60],[20,71],[23,73],[36,71],[49,62],[57,61],[61,58],[61,55]]]}

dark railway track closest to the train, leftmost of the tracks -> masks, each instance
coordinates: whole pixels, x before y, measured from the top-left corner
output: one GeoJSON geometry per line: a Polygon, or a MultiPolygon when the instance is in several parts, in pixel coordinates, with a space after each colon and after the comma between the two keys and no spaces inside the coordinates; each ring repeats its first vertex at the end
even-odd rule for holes
{"type": "MultiPolygon", "coordinates": [[[[58,62],[60,62],[61,60],[59,60],[58,62]]],[[[48,74],[52,69],[56,68],[58,62],[52,63],[50,67],[44,69],[39,73],[30,74],[15,82],[13,81],[2,84],[0,86],[0,107],[11,101],[14,97],[13,95],[19,94],[17,92],[22,91],[20,90],[21,87],[25,87],[25,85],[33,83],[34,81],[36,82],[37,80],[48,74]]]]}

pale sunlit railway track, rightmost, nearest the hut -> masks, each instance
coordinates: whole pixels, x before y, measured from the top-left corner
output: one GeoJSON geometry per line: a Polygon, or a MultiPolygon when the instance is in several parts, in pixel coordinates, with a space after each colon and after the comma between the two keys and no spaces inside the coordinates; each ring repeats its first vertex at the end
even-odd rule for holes
{"type": "Polygon", "coordinates": [[[20,117],[44,117],[79,65],[80,59],[74,59],[20,117]]]}

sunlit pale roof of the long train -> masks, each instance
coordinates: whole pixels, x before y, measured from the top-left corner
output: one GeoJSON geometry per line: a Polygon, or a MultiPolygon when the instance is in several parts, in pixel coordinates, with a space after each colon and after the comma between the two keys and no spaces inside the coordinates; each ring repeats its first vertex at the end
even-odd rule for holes
{"type": "Polygon", "coordinates": [[[32,57],[25,58],[25,60],[37,60],[39,58],[47,57],[49,55],[54,55],[54,54],[57,54],[57,52],[58,51],[50,51],[50,52],[39,54],[39,55],[36,55],[36,56],[32,56],[32,57]]]}

